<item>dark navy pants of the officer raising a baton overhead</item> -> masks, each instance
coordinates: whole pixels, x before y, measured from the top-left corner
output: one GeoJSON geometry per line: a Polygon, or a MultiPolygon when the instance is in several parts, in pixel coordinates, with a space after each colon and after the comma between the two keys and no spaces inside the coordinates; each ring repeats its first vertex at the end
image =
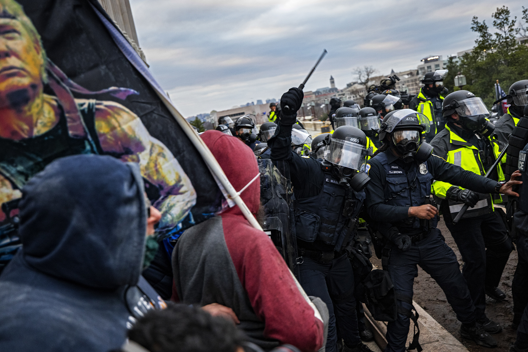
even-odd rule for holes
{"type": "Polygon", "coordinates": [[[326,303],[329,313],[327,352],[337,352],[337,331],[346,346],[355,347],[361,342],[357,331],[356,300],[354,298],[354,272],[346,255],[320,264],[303,258],[300,284],[308,296],[319,297],[326,303]]]}

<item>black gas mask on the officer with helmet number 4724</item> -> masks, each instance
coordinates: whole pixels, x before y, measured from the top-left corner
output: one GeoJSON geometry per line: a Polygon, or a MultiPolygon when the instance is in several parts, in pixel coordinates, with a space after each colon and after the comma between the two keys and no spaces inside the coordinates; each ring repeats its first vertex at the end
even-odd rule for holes
{"type": "Polygon", "coordinates": [[[392,132],[394,149],[402,155],[405,163],[416,160],[423,163],[432,154],[432,146],[426,142],[420,144],[421,132],[418,130],[398,130],[392,132]]]}

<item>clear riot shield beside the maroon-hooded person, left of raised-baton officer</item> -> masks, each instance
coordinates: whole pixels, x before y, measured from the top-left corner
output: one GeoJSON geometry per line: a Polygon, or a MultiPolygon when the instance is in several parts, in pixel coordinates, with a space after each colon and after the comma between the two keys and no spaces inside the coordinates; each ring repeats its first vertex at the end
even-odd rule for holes
{"type": "Polygon", "coordinates": [[[299,277],[297,264],[297,241],[289,181],[282,176],[270,159],[259,159],[260,202],[264,207],[265,218],[262,229],[268,232],[277,250],[294,275],[299,277]]]}

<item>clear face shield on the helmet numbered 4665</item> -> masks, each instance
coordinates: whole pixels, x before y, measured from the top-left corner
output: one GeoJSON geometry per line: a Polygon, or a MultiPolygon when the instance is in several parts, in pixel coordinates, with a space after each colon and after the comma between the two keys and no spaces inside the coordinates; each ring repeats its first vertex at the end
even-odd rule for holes
{"type": "Polygon", "coordinates": [[[331,138],[327,149],[328,155],[326,155],[325,159],[330,163],[354,170],[365,168],[366,158],[369,154],[365,146],[331,138]]]}

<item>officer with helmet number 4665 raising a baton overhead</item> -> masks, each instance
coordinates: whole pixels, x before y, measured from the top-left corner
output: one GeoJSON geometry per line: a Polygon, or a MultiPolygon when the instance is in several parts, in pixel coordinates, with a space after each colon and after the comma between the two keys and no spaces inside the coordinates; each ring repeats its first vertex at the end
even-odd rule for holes
{"type": "Polygon", "coordinates": [[[369,155],[365,134],[356,127],[342,126],[326,135],[328,151],[322,162],[297,155],[290,148],[291,126],[302,101],[298,88],[282,95],[277,133],[268,140],[272,160],[287,162],[294,186],[297,246],[302,256],[300,283],[308,295],[320,297],[328,307],[326,351],[337,350],[336,326],[344,339],[344,351],[369,351],[357,331],[354,273],[346,254],[365,197],[362,189],[369,180],[359,171],[369,155]],[[285,115],[286,105],[290,115],[285,115]]]}

